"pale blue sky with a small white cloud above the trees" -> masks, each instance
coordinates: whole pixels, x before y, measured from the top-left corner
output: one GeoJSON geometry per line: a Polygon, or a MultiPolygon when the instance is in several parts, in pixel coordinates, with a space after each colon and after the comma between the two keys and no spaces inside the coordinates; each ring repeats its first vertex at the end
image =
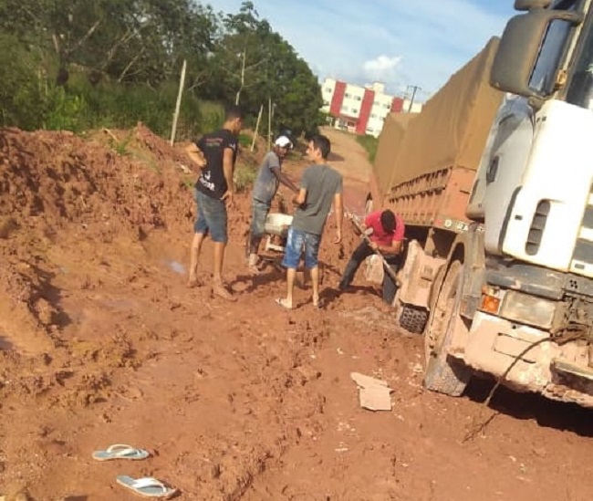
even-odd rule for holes
{"type": "MultiPolygon", "coordinates": [[[[236,13],[242,0],[203,0],[236,13]]],[[[428,99],[514,16],[513,0],[253,0],[322,81],[382,81],[428,99]]]]}

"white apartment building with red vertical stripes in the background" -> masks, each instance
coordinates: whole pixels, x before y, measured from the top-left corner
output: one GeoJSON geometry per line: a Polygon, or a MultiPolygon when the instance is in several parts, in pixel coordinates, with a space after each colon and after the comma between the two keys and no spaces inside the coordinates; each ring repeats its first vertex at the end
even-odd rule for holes
{"type": "Polygon", "coordinates": [[[412,103],[385,93],[385,85],[374,82],[361,87],[334,78],[326,78],[322,84],[322,111],[332,117],[337,129],[349,130],[356,134],[369,134],[379,137],[383,120],[389,113],[421,111],[421,103],[412,103]]]}

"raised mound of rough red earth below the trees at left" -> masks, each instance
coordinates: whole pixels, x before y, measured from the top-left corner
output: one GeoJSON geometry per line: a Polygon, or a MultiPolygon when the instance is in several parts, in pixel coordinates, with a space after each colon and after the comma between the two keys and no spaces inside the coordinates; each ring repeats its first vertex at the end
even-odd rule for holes
{"type": "Polygon", "coordinates": [[[188,180],[175,170],[188,160],[172,148],[165,152],[144,128],[135,131],[150,154],[127,145],[105,148],[68,132],[2,130],[5,236],[40,225],[51,233],[68,223],[100,224],[107,233],[120,226],[151,229],[179,224],[180,214],[190,217],[191,205],[182,196],[188,180]]]}

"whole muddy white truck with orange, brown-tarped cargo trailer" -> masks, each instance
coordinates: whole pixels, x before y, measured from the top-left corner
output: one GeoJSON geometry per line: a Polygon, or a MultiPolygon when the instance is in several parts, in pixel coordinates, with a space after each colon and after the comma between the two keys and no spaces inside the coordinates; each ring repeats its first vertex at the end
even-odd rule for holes
{"type": "Polygon", "coordinates": [[[463,111],[475,125],[459,125],[458,110],[487,101],[474,79],[450,110],[453,138],[438,123],[412,137],[441,91],[398,124],[395,149],[380,138],[392,169],[376,164],[369,200],[407,225],[395,304],[401,327],[423,334],[429,390],[459,396],[487,374],[593,407],[592,3],[515,0],[519,14],[469,63],[485,61],[496,110],[463,111]]]}

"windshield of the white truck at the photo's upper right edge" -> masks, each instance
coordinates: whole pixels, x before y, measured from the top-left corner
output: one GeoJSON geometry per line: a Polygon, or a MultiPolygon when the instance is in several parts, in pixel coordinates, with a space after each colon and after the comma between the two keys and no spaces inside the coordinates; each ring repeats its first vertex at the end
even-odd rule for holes
{"type": "Polygon", "coordinates": [[[593,11],[583,26],[577,59],[567,89],[567,102],[593,110],[593,11]]]}

